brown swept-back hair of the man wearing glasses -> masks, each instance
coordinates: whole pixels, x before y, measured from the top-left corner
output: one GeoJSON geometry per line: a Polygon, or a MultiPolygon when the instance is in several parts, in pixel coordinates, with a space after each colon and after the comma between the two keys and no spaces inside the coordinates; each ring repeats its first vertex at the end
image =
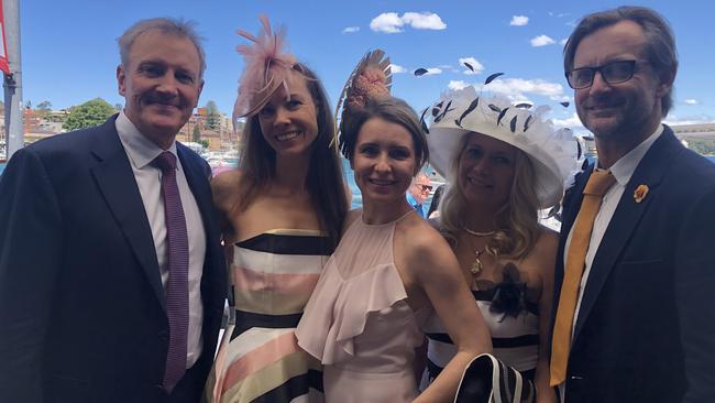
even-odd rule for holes
{"type": "MultiPolygon", "coordinates": [[[[646,54],[648,63],[653,67],[659,78],[668,77],[678,70],[678,52],[675,36],[668,21],[654,10],[646,7],[624,6],[613,10],[594,12],[584,17],[573,30],[566,45],[563,47],[563,68],[566,74],[573,68],[573,58],[579,43],[602,28],[615,25],[620,21],[632,21],[640,25],[646,34],[646,54]]],[[[673,88],[661,99],[663,117],[673,106],[673,88]]]]}

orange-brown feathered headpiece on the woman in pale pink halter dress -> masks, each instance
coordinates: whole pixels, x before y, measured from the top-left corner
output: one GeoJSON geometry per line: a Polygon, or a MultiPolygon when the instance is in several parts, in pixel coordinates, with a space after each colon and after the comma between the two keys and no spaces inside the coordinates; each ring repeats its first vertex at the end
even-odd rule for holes
{"type": "Polygon", "coordinates": [[[348,81],[338,99],[338,106],[336,107],[336,139],[338,139],[338,132],[340,131],[338,117],[342,122],[349,119],[351,110],[364,107],[367,99],[389,97],[392,83],[389,57],[378,48],[367,52],[348,77],[348,81]]]}

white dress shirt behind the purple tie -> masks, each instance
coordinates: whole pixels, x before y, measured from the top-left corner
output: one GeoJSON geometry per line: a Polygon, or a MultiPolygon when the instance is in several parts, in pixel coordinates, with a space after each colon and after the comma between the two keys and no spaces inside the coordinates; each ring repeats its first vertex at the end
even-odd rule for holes
{"type": "MultiPolygon", "coordinates": [[[[164,197],[162,195],[162,171],[151,164],[158,154],[164,152],[158,145],[144,137],[131,120],[120,112],[116,122],[119,139],[124,146],[134,179],[142,195],[144,210],[152,228],[154,248],[158,261],[162,284],[168,284],[168,257],[166,250],[166,218],[164,216],[164,197]]],[[[167,150],[176,155],[176,142],[167,150]]],[[[182,162],[176,155],[176,184],[182,197],[182,207],[186,218],[189,243],[189,328],[187,335],[186,368],[194,366],[201,353],[201,327],[204,324],[204,304],[201,303],[201,275],[206,255],[206,232],[201,213],[196,204],[194,194],[186,182],[182,162]]]]}

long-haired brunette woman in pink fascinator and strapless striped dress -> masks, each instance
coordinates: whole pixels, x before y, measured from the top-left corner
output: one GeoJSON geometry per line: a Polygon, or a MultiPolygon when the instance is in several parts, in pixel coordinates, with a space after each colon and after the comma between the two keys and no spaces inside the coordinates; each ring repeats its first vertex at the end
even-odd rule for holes
{"type": "Polygon", "coordinates": [[[213,178],[230,261],[234,315],[206,397],[210,402],[321,402],[320,362],[295,328],[340,239],[349,202],[331,145],[330,102],[318,77],[285,53],[268,21],[239,52],[234,116],[245,116],[240,166],[213,178]]]}

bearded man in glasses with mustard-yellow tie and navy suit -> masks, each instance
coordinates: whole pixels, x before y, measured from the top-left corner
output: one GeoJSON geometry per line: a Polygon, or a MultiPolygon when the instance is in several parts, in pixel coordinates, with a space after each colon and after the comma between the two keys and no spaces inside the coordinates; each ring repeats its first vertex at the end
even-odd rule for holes
{"type": "Polygon", "coordinates": [[[564,197],[551,384],[566,403],[713,402],[715,164],[661,123],[672,32],[646,8],[586,15],[564,68],[598,156],[564,197]]]}

